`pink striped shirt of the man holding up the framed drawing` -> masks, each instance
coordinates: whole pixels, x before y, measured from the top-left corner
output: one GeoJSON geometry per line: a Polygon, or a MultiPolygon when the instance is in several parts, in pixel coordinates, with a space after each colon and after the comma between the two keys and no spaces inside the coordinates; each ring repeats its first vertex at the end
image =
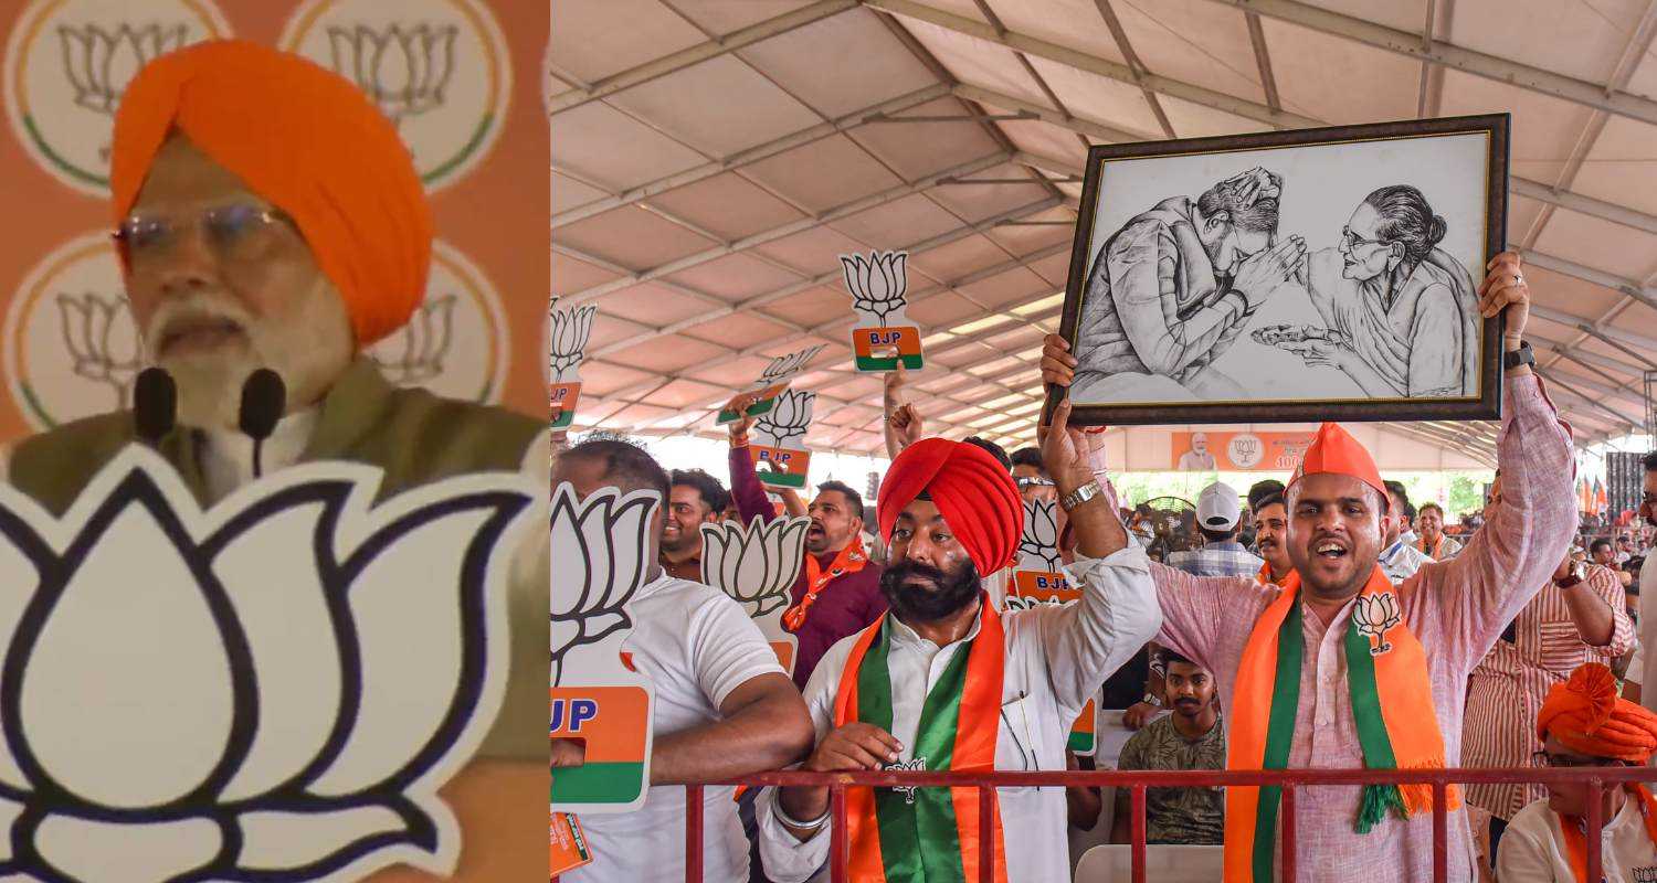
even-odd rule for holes
{"type": "MultiPolygon", "coordinates": [[[[1403,621],[1427,648],[1433,709],[1450,765],[1461,760],[1468,674],[1536,595],[1536,586],[1559,567],[1576,528],[1571,432],[1559,422],[1541,381],[1506,378],[1501,414],[1496,456],[1503,495],[1495,517],[1457,558],[1428,563],[1399,586],[1403,621]]],[[[1243,644],[1279,588],[1253,578],[1198,578],[1160,565],[1152,565],[1152,577],[1163,615],[1157,641],[1215,673],[1221,701],[1231,704],[1243,644]]],[[[1306,648],[1289,767],[1362,767],[1341,648],[1352,605],[1329,623],[1302,611],[1306,648]]],[[[1296,835],[1302,880],[1432,880],[1432,813],[1389,817],[1360,835],[1352,830],[1357,807],[1357,787],[1299,790],[1296,835]]],[[[1471,880],[1473,843],[1465,810],[1450,813],[1448,837],[1450,880],[1471,880]]]]}

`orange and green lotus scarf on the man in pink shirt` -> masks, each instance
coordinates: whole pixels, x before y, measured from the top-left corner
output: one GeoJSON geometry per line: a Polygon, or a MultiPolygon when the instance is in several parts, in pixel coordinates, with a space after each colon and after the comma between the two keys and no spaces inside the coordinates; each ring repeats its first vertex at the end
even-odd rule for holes
{"type": "MultiPolygon", "coordinates": [[[[1289,573],[1243,648],[1226,724],[1226,769],[1286,769],[1301,701],[1301,575],[1289,573]]],[[[1443,734],[1427,679],[1427,653],[1403,625],[1397,590],[1380,567],[1359,591],[1345,636],[1347,689],[1365,769],[1442,769],[1443,734]]],[[[1450,810],[1461,797],[1450,787],[1450,810]]],[[[1403,818],[1432,810],[1432,785],[1364,785],[1354,830],[1369,833],[1390,810],[1403,818]]],[[[1283,789],[1226,789],[1226,883],[1268,883],[1283,789]]]]}

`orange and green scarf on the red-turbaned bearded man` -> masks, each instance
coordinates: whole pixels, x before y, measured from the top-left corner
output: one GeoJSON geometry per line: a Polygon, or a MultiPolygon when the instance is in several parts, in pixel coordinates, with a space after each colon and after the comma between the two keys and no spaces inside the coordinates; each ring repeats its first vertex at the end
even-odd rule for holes
{"type": "MultiPolygon", "coordinates": [[[[984,596],[978,636],[954,653],[926,692],[911,745],[913,760],[893,767],[988,772],[996,765],[1006,639],[984,596]]],[[[891,732],[891,615],[863,630],[840,674],[833,724],[852,721],[891,732]]],[[[996,830],[978,828],[976,789],[850,789],[845,795],[852,860],[847,878],[891,883],[978,880],[981,837],[994,837],[996,881],[1006,883],[1001,808],[996,830]]]]}

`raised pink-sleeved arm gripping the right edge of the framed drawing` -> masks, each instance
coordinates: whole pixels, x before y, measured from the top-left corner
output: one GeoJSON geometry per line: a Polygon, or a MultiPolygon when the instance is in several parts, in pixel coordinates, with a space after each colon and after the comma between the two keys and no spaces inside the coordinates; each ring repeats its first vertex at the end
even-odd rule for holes
{"type": "MultiPolygon", "coordinates": [[[[1529,288],[1519,257],[1498,255],[1480,287],[1480,311],[1491,318],[1506,310],[1503,350],[1519,348],[1529,315],[1529,288]]],[[[1445,610],[1445,643],[1473,668],[1495,646],[1501,630],[1553,577],[1576,533],[1577,512],[1571,484],[1576,461],[1571,431],[1529,366],[1506,373],[1496,466],[1501,500],[1485,528],[1460,555],[1428,580],[1445,610]]]]}

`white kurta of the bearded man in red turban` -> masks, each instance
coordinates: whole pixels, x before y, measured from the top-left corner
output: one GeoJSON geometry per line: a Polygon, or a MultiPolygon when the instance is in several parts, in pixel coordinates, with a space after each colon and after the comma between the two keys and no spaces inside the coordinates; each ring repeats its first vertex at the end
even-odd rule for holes
{"type": "MultiPolygon", "coordinates": [[[[1007,663],[1001,688],[1001,721],[996,737],[998,770],[1062,770],[1070,722],[1082,704],[1099,692],[1112,671],[1128,661],[1162,625],[1157,593],[1145,553],[1123,548],[1107,558],[1077,558],[1069,565],[1082,600],[1065,606],[1039,606],[1002,613],[1007,663]]],[[[891,636],[891,736],[903,744],[900,762],[920,729],[926,691],[949,659],[978,635],[938,646],[903,623],[891,636]]],[[[805,686],[817,739],[833,729],[833,697],[857,636],[828,649],[805,686]]],[[[1009,883],[1069,880],[1064,789],[999,789],[1001,822],[1007,843],[1009,883]]],[[[759,852],[775,883],[802,883],[828,860],[830,825],[804,843],[775,817],[775,790],[767,789],[759,810],[759,852]]]]}

